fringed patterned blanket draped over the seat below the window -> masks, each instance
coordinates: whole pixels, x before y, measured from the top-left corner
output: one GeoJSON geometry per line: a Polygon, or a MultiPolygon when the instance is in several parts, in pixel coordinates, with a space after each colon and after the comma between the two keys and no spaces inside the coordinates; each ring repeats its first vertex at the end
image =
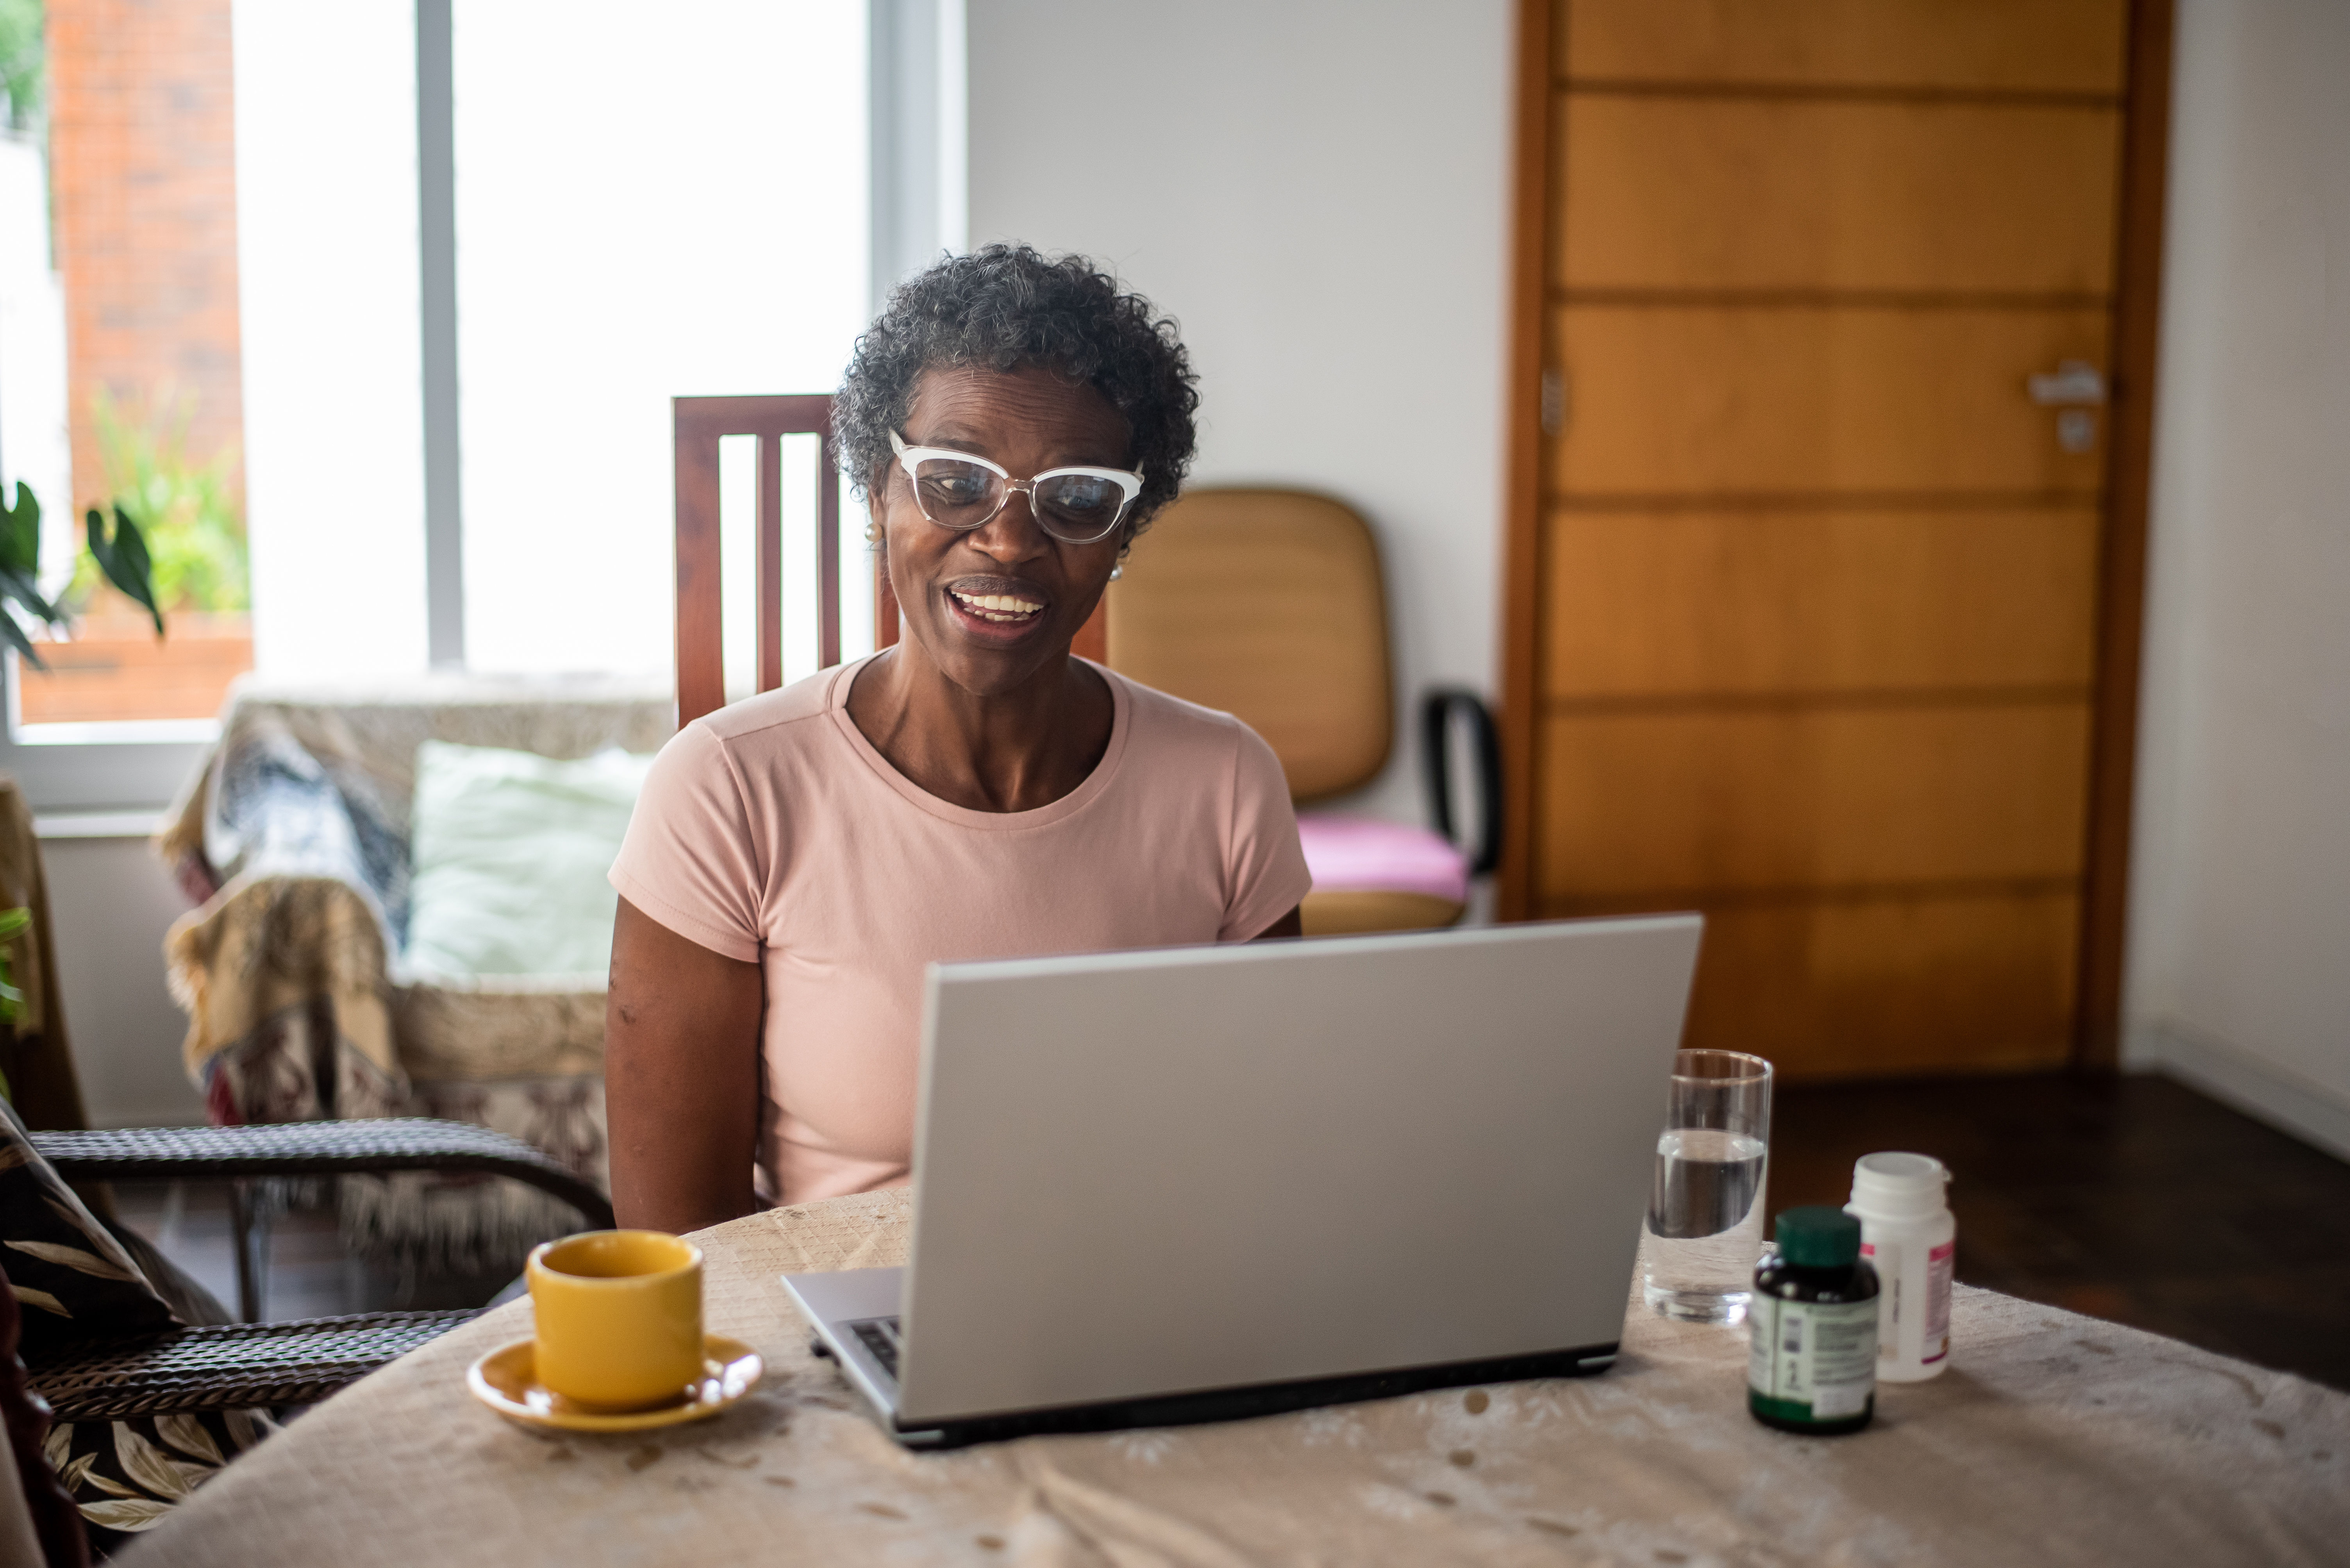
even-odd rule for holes
{"type": "MultiPolygon", "coordinates": [[[[430,678],[244,683],[157,850],[197,904],[164,939],[188,1073],[214,1122],[435,1115],[529,1138],[606,1181],[604,993],[578,976],[404,984],[416,746],[656,751],[667,688],[430,678]]],[[[576,1225],[482,1176],[352,1176],[367,1256],[484,1272],[576,1225]]]]}

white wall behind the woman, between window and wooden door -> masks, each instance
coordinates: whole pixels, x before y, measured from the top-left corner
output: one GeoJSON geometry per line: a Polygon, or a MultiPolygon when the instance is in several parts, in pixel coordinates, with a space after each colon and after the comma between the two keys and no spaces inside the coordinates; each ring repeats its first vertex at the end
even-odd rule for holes
{"type": "MultiPolygon", "coordinates": [[[[1511,16],[968,5],[971,242],[1083,251],[1182,322],[1194,484],[1318,488],[1370,519],[1403,704],[1497,683],[1511,16]],[[1097,113],[1072,113],[1072,75],[1097,113]]],[[[1365,810],[1424,819],[1412,749],[1398,723],[1365,810]]]]}

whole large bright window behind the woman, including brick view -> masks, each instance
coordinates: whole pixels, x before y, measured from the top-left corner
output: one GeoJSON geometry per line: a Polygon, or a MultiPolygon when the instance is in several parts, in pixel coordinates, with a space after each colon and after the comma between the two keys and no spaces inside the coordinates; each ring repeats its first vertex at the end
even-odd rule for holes
{"type": "MultiPolygon", "coordinates": [[[[38,9],[0,0],[0,45],[38,9]]],[[[181,563],[162,648],[94,596],[59,676],[9,671],[0,765],[49,810],[164,800],[247,664],[665,678],[667,399],[834,387],[877,289],[959,242],[959,0],[70,12],[61,113],[0,138],[0,479],[40,495],[52,582],[122,474],[167,469],[183,523],[150,523],[181,563]],[[42,129],[63,268],[19,221],[42,129]],[[115,331],[132,296],[153,319],[115,331]],[[108,657],[103,702],[61,699],[108,657]]]]}

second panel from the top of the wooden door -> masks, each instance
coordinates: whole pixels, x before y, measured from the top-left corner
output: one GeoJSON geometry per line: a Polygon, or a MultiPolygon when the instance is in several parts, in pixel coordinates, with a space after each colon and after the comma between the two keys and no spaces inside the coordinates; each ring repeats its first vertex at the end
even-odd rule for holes
{"type": "Polygon", "coordinates": [[[1567,289],[2113,282],[2115,108],[1572,94],[1565,127],[1567,289]]]}

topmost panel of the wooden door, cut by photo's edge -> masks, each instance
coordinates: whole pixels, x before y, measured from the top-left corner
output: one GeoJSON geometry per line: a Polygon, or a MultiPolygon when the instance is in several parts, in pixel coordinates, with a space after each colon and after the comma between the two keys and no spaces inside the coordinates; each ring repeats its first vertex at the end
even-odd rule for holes
{"type": "Polygon", "coordinates": [[[2122,92],[2124,0],[1574,0],[1560,75],[2122,92]]]}

